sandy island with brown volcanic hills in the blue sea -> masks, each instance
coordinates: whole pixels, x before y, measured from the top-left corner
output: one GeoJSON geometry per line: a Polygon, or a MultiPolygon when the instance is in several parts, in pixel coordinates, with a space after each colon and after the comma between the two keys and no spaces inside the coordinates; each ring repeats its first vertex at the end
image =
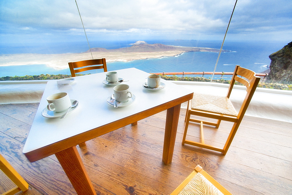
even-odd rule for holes
{"type": "MultiPolygon", "coordinates": [[[[219,52],[220,49],[205,47],[169,46],[160,43],[148,44],[136,41],[130,47],[118,49],[91,48],[82,53],[62,54],[3,54],[0,55],[0,66],[44,64],[54,69],[68,68],[68,62],[105,58],[107,62],[128,62],[149,58],[161,58],[180,55],[186,52],[219,52]],[[91,56],[92,53],[92,56],[91,56]]],[[[223,50],[222,52],[229,52],[223,50]]]]}

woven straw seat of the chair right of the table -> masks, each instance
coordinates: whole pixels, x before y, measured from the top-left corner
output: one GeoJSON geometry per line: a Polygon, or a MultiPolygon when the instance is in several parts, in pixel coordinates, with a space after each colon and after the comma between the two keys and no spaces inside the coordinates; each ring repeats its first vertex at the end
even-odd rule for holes
{"type": "Polygon", "coordinates": [[[192,109],[237,116],[231,101],[225,96],[194,93],[192,109]]]}

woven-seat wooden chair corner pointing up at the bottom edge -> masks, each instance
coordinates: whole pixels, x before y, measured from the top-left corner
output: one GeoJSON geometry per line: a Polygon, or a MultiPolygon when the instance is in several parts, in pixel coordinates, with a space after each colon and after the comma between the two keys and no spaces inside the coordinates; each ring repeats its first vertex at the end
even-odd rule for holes
{"type": "Polygon", "coordinates": [[[199,165],[195,170],[171,193],[177,194],[231,194],[199,165]]]}

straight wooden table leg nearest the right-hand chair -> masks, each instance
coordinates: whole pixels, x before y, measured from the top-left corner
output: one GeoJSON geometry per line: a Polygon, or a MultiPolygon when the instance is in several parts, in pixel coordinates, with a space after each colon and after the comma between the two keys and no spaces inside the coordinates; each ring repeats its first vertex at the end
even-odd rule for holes
{"type": "Polygon", "coordinates": [[[178,119],[180,116],[180,104],[167,109],[164,133],[162,161],[167,165],[171,163],[175,144],[178,119]]]}

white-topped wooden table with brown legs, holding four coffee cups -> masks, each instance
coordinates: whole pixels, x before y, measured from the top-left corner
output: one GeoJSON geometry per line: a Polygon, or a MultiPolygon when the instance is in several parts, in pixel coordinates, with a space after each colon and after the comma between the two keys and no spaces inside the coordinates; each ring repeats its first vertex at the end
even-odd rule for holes
{"type": "Polygon", "coordinates": [[[136,101],[128,107],[114,108],[107,104],[114,86],[102,83],[104,72],[74,77],[72,86],[63,89],[57,88],[57,81],[48,81],[23,148],[30,162],[55,154],[78,194],[95,194],[95,190],[77,152],[77,144],[167,109],[162,160],[168,164],[173,156],[180,104],[193,97],[191,90],[166,80],[161,80],[166,88],[146,90],[142,84],[149,74],[135,68],[116,72],[136,96],[136,101]],[[70,99],[80,102],[79,107],[63,119],[41,116],[48,104],[46,97],[58,92],[67,92],[70,99]]]}

